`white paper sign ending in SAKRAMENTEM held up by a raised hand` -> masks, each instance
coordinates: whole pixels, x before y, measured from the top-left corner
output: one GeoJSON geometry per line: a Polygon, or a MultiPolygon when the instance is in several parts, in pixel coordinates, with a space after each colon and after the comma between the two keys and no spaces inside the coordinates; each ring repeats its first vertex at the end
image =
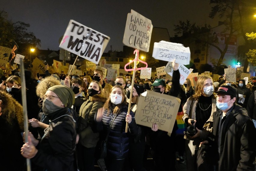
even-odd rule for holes
{"type": "Polygon", "coordinates": [[[176,63],[188,65],[190,61],[190,49],[182,44],[161,41],[154,43],[152,57],[163,61],[173,61],[176,63]]]}

